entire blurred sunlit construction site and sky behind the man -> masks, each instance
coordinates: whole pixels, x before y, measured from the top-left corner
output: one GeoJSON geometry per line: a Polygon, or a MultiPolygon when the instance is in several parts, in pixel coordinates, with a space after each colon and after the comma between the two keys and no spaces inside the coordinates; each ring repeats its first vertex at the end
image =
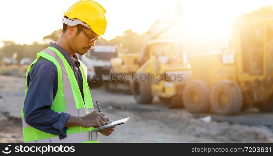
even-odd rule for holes
{"type": "MultiPolygon", "coordinates": [[[[23,142],[26,70],[74,2],[1,2],[0,142],[23,142]]],[[[272,1],[96,2],[110,40],[79,58],[93,103],[131,117],[100,142],[273,142],[272,1]]]]}

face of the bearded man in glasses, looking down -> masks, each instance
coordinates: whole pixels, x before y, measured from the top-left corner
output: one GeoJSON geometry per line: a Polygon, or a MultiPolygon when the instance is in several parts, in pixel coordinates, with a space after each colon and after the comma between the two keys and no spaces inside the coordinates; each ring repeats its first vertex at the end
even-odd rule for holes
{"type": "MultiPolygon", "coordinates": [[[[85,33],[87,33],[87,35],[90,36],[91,38],[99,37],[99,35],[94,33],[91,29],[86,29],[86,28],[84,28],[84,26],[82,26],[81,28],[83,28],[85,33]]],[[[74,26],[74,30],[71,34],[70,47],[75,53],[78,53],[80,55],[84,55],[90,49],[92,49],[92,47],[95,46],[95,42],[94,41],[89,42],[89,38],[85,35],[85,33],[83,31],[81,31],[77,35],[77,33],[76,33],[77,29],[78,29],[78,27],[74,26]]]]}

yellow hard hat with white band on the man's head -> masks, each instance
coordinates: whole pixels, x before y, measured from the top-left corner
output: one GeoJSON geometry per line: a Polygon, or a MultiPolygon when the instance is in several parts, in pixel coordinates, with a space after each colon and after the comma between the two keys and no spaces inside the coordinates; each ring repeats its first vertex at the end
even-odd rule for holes
{"type": "Polygon", "coordinates": [[[69,26],[82,24],[92,29],[101,38],[107,39],[104,35],[107,25],[106,11],[99,3],[90,0],[80,0],[63,14],[68,17],[63,18],[63,23],[69,26]]]}

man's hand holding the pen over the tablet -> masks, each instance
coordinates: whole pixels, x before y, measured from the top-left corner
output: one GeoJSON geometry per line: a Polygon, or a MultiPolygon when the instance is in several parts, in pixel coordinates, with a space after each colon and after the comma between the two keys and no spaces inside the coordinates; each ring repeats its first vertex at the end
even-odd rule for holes
{"type": "Polygon", "coordinates": [[[81,117],[81,126],[85,128],[94,127],[99,128],[104,124],[110,123],[110,119],[105,116],[105,113],[93,111],[90,114],[81,117]]]}

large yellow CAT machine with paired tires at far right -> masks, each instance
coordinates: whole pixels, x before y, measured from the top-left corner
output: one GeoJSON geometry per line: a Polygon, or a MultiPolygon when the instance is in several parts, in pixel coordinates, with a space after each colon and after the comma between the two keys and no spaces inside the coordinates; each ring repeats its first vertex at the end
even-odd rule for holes
{"type": "Polygon", "coordinates": [[[238,20],[232,27],[229,48],[191,59],[193,80],[183,90],[188,111],[273,110],[273,19],[238,20]]]}

